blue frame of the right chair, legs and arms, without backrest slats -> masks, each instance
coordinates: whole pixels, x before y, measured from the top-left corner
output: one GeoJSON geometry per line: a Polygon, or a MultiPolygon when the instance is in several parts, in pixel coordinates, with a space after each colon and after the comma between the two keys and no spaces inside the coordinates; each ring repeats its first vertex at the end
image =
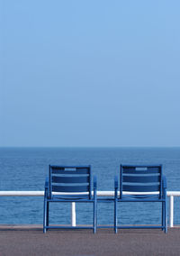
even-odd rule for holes
{"type": "MultiPolygon", "coordinates": [[[[138,185],[137,185],[138,186],[138,185]]],[[[167,206],[166,206],[166,177],[162,175],[162,165],[121,165],[120,166],[120,196],[118,195],[118,177],[114,178],[114,233],[118,232],[118,229],[144,229],[144,228],[160,228],[167,233],[167,206]],[[124,195],[122,191],[123,180],[122,180],[122,169],[123,168],[159,168],[160,169],[160,188],[159,195],[156,198],[154,195],[146,195],[146,192],[143,193],[143,196],[139,197],[139,195],[124,195]],[[132,196],[133,195],[133,196],[132,196]],[[132,197],[130,197],[132,196],[132,197]],[[162,215],[161,215],[161,225],[118,225],[117,220],[117,203],[123,202],[159,202],[162,204],[162,215]]],[[[148,192],[148,191],[147,191],[148,192]]]]}

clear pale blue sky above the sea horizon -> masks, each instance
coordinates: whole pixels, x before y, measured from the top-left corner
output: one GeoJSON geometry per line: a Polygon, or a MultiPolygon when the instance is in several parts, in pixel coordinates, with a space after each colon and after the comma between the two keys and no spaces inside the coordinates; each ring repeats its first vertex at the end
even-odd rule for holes
{"type": "Polygon", "coordinates": [[[179,0],[0,10],[0,146],[180,146],[179,0]]]}

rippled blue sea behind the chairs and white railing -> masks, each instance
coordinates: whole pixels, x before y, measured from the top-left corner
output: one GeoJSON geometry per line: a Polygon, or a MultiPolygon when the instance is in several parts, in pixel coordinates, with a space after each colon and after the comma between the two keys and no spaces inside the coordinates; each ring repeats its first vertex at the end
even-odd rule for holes
{"type": "MultiPolygon", "coordinates": [[[[91,164],[98,190],[113,190],[121,163],[163,164],[167,190],[180,191],[180,148],[0,148],[0,190],[43,190],[49,164],[91,164]]],[[[92,223],[89,205],[76,205],[77,224],[92,223]]],[[[158,204],[118,207],[121,224],[160,222],[158,204]]],[[[42,197],[0,197],[0,209],[0,224],[42,224],[42,197]]],[[[53,204],[50,216],[52,224],[70,224],[70,204],[53,204]]],[[[113,205],[99,204],[98,224],[112,221],[113,205]]],[[[175,198],[175,223],[180,224],[179,198],[175,198]]]]}

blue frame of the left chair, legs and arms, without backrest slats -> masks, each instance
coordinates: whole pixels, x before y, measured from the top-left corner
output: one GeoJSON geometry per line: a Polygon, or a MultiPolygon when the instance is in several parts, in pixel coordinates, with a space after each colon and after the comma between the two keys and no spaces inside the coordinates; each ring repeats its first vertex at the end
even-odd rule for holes
{"type": "MultiPolygon", "coordinates": [[[[67,174],[67,173],[66,173],[67,174]]],[[[77,183],[78,180],[76,179],[77,183]]],[[[72,182],[76,182],[75,180],[72,182]]],[[[66,182],[66,180],[63,180],[66,182]]],[[[62,182],[62,183],[63,183],[62,182]]],[[[80,182],[80,180],[79,180],[80,182]]],[[[91,180],[91,166],[53,166],[49,165],[49,177],[46,178],[45,181],[45,189],[44,189],[44,207],[43,207],[43,233],[46,233],[49,229],[93,229],[94,233],[96,233],[96,226],[97,226],[97,181],[96,177],[94,176],[94,195],[92,195],[92,180],[91,180]],[[53,187],[52,187],[52,169],[88,169],[89,174],[89,188],[88,191],[85,191],[85,195],[83,196],[80,192],[72,191],[68,192],[67,188],[65,187],[65,194],[54,195],[53,194],[53,187]],[[72,195],[73,194],[73,195],[72,195]],[[76,203],[93,203],[94,204],[94,224],[93,226],[69,226],[69,225],[49,225],[49,203],[65,203],[65,202],[76,202],[76,203]]],[[[79,183],[78,183],[79,184],[79,183]]],[[[78,190],[78,187],[75,188],[78,190]]]]}

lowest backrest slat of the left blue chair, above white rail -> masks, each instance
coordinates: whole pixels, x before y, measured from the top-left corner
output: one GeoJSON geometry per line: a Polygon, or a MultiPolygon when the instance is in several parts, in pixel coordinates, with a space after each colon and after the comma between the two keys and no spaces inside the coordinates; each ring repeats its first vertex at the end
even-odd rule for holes
{"type": "Polygon", "coordinates": [[[52,185],[53,192],[88,192],[89,186],[54,186],[52,185]]]}

